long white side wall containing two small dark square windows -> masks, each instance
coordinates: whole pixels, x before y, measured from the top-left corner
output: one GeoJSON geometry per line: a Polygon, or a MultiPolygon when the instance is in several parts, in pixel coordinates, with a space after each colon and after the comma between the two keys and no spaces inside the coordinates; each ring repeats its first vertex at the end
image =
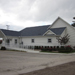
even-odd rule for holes
{"type": "Polygon", "coordinates": [[[41,36],[41,37],[23,37],[22,38],[23,45],[26,46],[58,46],[58,42],[56,37],[48,37],[48,36],[41,36]],[[31,42],[31,39],[34,39],[34,43],[31,42]],[[48,43],[48,39],[52,39],[51,43],[48,43]]]}

